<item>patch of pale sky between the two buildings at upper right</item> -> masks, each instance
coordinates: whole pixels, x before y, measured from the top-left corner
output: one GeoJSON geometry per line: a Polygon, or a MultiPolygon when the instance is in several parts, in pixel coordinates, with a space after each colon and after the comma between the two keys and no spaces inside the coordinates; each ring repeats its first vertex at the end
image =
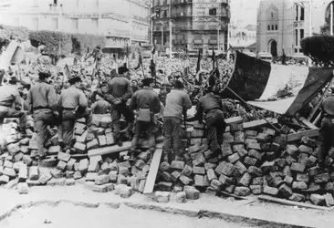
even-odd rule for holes
{"type": "Polygon", "coordinates": [[[260,0],[231,0],[231,22],[239,26],[256,25],[260,0]]]}

